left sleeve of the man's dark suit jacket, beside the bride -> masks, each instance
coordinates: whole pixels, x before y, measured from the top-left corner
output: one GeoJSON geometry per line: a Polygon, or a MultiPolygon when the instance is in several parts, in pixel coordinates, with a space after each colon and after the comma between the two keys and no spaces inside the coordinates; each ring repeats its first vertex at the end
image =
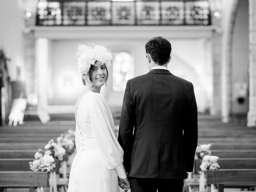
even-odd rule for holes
{"type": "Polygon", "coordinates": [[[130,93],[130,82],[128,80],[124,92],[122,112],[119,124],[118,142],[124,150],[124,167],[130,171],[132,146],[134,143],[133,129],[136,122],[135,107],[130,93]]]}

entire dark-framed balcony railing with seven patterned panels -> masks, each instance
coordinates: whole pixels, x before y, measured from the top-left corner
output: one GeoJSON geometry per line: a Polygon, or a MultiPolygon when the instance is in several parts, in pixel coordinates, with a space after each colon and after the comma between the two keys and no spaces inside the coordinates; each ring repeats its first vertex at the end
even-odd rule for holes
{"type": "Polygon", "coordinates": [[[207,0],[43,1],[38,26],[210,25],[207,0]]]}

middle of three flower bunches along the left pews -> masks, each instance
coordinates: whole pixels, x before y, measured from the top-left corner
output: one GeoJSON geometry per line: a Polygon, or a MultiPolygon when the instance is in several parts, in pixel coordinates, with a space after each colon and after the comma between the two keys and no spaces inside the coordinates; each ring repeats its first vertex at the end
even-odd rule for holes
{"type": "Polygon", "coordinates": [[[50,155],[60,161],[63,160],[63,156],[66,154],[66,150],[62,146],[57,145],[53,139],[51,139],[44,148],[46,149],[44,155],[50,155]]]}

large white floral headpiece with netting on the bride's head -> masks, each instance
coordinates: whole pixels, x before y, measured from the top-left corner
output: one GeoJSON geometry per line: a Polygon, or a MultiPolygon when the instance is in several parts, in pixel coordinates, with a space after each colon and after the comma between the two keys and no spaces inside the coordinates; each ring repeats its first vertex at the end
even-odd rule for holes
{"type": "Polygon", "coordinates": [[[113,54],[110,48],[104,46],[93,43],[88,44],[88,46],[79,44],[76,52],[78,72],[87,74],[90,66],[95,65],[96,61],[104,63],[107,67],[111,66],[110,60],[112,60],[113,54]]]}

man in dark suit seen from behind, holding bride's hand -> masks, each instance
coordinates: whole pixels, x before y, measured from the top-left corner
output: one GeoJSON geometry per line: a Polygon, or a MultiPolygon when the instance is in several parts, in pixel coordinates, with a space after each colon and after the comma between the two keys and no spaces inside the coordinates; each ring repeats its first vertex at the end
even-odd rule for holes
{"type": "Polygon", "coordinates": [[[145,48],[150,71],[128,80],[124,93],[118,135],[124,166],[132,192],[182,192],[198,139],[194,88],[167,69],[168,40],[152,38],[145,48]]]}

